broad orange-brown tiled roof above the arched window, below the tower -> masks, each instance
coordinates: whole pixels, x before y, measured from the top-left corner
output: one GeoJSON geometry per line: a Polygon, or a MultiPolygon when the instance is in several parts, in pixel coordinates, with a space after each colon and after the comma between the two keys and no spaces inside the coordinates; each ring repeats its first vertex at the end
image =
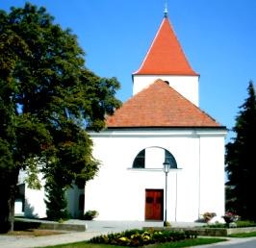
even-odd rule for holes
{"type": "Polygon", "coordinates": [[[115,111],[114,115],[108,116],[107,127],[220,127],[220,125],[159,79],[130,98],[115,111]]]}

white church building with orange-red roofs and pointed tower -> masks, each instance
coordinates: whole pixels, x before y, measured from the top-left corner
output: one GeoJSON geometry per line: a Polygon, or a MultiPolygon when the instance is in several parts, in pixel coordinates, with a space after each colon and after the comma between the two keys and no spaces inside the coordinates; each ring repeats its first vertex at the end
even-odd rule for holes
{"type": "MultiPolygon", "coordinates": [[[[73,216],[79,206],[98,211],[99,220],[192,222],[206,211],[221,216],[227,130],[200,110],[199,74],[166,12],[132,76],[133,96],[107,117],[106,129],[90,133],[93,156],[101,165],[85,189],[76,191],[73,216]]],[[[45,214],[40,197],[33,209],[43,210],[38,216],[45,214]]],[[[26,192],[25,198],[35,201],[26,192]]]]}

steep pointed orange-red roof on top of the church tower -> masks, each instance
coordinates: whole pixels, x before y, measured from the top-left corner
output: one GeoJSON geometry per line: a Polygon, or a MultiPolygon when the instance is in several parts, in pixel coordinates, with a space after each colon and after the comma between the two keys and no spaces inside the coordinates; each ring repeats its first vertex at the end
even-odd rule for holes
{"type": "Polygon", "coordinates": [[[134,75],[198,75],[192,70],[179,40],[164,18],[141,67],[134,75]]]}

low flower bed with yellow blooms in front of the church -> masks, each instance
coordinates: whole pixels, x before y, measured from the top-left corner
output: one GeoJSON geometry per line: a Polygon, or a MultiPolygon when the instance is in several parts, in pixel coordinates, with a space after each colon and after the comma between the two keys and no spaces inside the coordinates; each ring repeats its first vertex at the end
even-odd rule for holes
{"type": "Polygon", "coordinates": [[[90,239],[90,243],[114,244],[120,246],[138,247],[153,243],[163,243],[179,241],[187,238],[196,238],[195,231],[170,231],[170,230],[129,230],[121,233],[105,236],[95,236],[90,239]]]}

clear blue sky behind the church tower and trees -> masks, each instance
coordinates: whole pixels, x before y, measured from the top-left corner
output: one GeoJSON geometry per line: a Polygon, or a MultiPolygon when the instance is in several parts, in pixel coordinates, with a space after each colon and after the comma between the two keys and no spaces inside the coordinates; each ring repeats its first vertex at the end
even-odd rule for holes
{"type": "MultiPolygon", "coordinates": [[[[2,0],[0,9],[24,6],[2,0]]],[[[166,0],[31,0],[70,28],[86,52],[86,65],[116,77],[117,98],[132,96],[136,71],[163,19],[166,0]]],[[[248,82],[256,85],[255,0],[168,0],[168,16],[192,68],[200,74],[201,110],[231,129],[248,82]]],[[[232,133],[229,133],[226,141],[232,133]]]]}

